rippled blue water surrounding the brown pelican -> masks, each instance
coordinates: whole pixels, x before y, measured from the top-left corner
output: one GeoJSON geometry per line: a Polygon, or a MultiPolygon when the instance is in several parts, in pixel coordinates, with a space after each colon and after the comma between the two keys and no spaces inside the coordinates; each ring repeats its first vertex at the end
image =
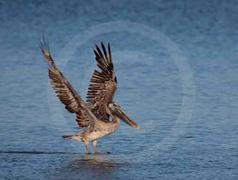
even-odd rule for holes
{"type": "Polygon", "coordinates": [[[236,3],[0,1],[1,179],[237,179],[236,3]],[[121,124],[85,155],[55,97],[39,39],[85,97],[95,43],[110,42],[121,124]]]}

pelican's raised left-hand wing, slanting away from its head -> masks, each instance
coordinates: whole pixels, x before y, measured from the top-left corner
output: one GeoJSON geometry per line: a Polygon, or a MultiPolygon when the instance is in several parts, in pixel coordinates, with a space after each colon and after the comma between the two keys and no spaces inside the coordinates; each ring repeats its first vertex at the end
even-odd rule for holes
{"type": "Polygon", "coordinates": [[[50,83],[55,90],[57,97],[69,112],[76,114],[76,121],[79,127],[85,128],[93,126],[96,117],[56,66],[44,38],[41,42],[41,51],[49,64],[48,72],[51,80],[50,83]]]}

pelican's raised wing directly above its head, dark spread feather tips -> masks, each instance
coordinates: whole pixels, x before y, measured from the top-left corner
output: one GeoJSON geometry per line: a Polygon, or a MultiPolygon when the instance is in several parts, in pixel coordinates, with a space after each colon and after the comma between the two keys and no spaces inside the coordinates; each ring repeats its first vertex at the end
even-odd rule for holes
{"type": "Polygon", "coordinates": [[[106,106],[112,101],[117,89],[117,78],[112,63],[110,44],[107,50],[101,43],[102,50],[96,45],[94,53],[97,66],[100,70],[94,70],[87,93],[87,102],[92,106],[95,116],[103,121],[109,121],[106,106]]]}

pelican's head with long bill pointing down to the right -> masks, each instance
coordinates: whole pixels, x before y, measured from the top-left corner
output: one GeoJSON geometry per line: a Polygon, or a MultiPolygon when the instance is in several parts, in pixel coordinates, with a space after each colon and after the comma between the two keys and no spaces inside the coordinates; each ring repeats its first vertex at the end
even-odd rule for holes
{"type": "Polygon", "coordinates": [[[121,119],[122,121],[124,121],[126,124],[130,125],[133,128],[137,128],[139,129],[140,126],[134,122],[133,120],[131,120],[126,113],[123,111],[123,109],[121,108],[121,106],[119,106],[119,104],[115,103],[115,102],[111,102],[108,104],[108,113],[112,116],[116,116],[119,119],[121,119]]]}

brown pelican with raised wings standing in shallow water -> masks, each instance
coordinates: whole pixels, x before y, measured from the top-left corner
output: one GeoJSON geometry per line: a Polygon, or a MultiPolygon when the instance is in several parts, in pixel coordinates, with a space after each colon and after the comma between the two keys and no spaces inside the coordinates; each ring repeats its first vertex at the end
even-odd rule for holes
{"type": "Polygon", "coordinates": [[[117,78],[112,63],[110,44],[107,45],[107,49],[103,43],[101,43],[101,49],[97,45],[94,49],[98,70],[93,72],[86,101],[80,97],[56,66],[44,39],[41,42],[41,51],[49,65],[50,83],[57,97],[69,112],[76,115],[79,128],[83,128],[79,133],[65,135],[63,138],[84,142],[87,153],[90,153],[90,142],[92,142],[94,153],[96,153],[97,140],[115,132],[119,128],[120,120],[134,128],[140,128],[126,115],[120,105],[113,101],[117,89],[117,78]]]}

